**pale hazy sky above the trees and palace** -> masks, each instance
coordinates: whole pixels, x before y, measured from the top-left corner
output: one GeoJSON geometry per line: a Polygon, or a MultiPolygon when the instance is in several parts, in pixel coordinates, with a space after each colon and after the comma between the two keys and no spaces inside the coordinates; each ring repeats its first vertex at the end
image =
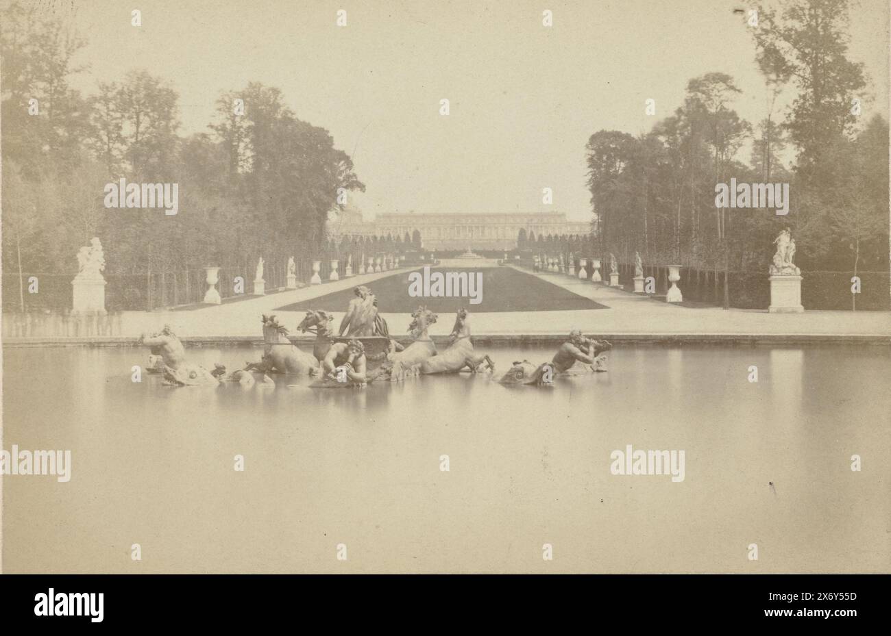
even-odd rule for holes
{"type": "MultiPolygon", "coordinates": [[[[736,79],[742,117],[765,113],[752,39],[732,12],[748,5],[732,0],[42,2],[89,40],[78,88],[147,68],[180,94],[181,133],[208,130],[223,90],[281,88],[298,117],[354,157],[366,218],[552,209],[586,220],[592,133],[648,131],[681,104],[688,79],[709,71],[736,79]],[[130,25],[134,8],[141,28],[130,25]],[[347,27],[336,25],[338,9],[347,27]],[[648,98],[656,117],[645,115],[648,98]],[[552,206],[542,205],[545,186],[552,206]]],[[[860,4],[850,55],[866,63],[876,98],[863,117],[887,117],[887,0],[860,4]]]]}

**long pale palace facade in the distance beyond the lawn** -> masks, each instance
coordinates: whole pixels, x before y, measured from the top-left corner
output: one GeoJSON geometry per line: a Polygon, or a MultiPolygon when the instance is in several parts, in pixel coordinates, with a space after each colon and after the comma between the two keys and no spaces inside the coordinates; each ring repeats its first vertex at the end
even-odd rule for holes
{"type": "Polygon", "coordinates": [[[331,234],[343,236],[410,237],[421,233],[425,250],[510,250],[517,246],[520,229],[527,236],[586,235],[591,232],[587,221],[568,221],[566,214],[546,213],[388,213],[374,221],[364,221],[362,213],[347,208],[332,220],[331,234]]]}

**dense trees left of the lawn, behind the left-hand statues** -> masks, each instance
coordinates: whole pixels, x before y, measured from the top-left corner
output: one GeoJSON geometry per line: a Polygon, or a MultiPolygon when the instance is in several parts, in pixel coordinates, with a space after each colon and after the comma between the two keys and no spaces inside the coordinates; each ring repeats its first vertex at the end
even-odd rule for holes
{"type": "Polygon", "coordinates": [[[19,3],[0,23],[7,273],[76,271],[94,236],[110,276],[321,250],[329,212],[364,190],[331,134],[299,119],[279,89],[222,91],[208,131],[183,135],[163,77],[133,70],[74,90],[85,45],[19,3]],[[177,183],[180,213],[106,209],[103,188],[121,177],[177,183]]]}

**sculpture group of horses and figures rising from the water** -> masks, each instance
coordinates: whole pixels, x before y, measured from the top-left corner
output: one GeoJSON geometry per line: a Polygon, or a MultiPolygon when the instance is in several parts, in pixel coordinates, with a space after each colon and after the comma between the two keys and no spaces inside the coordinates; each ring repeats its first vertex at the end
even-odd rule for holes
{"type": "MultiPolygon", "coordinates": [[[[371,382],[397,382],[417,375],[477,373],[483,366],[495,371],[492,358],[474,349],[467,310],[458,311],[448,346],[439,351],[428,333],[437,322],[435,312],[426,307],[414,311],[409,325],[413,339],[403,344],[390,337],[372,291],[357,286],[354,292],[355,298],[349,302],[337,332],[330,312],[307,311],[297,328],[301,333],[315,333],[312,353],[290,342],[287,327],[275,316],[264,315],[263,356],[231,374],[222,365],[209,370],[188,363],[183,343],[169,326],[150,336],[143,334],[138,342],[151,347],[148,370],[163,374],[165,381],[174,386],[218,386],[223,382],[253,385],[256,381],[252,374],[259,373],[263,374],[261,387],[274,387],[269,374],[309,374],[317,376],[310,387],[339,389],[363,387],[371,382]]],[[[609,342],[593,340],[575,330],[550,362],[515,362],[500,382],[549,386],[555,377],[605,371],[603,353],[609,349],[609,342]]]]}

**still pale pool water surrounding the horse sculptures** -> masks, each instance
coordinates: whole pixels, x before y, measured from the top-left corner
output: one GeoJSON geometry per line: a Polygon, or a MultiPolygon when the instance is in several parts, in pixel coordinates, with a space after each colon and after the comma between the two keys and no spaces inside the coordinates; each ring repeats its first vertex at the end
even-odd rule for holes
{"type": "MultiPolygon", "coordinates": [[[[490,353],[500,375],[552,350],[490,353]]],[[[233,369],[260,350],[189,354],[233,369]]],[[[131,382],[146,357],[4,350],[3,447],[72,457],[68,483],[4,477],[5,572],[891,568],[885,347],[619,346],[608,373],[552,389],[489,374],[364,390],[131,382]],[[611,474],[627,445],[683,450],[683,481],[611,474]]]]}

